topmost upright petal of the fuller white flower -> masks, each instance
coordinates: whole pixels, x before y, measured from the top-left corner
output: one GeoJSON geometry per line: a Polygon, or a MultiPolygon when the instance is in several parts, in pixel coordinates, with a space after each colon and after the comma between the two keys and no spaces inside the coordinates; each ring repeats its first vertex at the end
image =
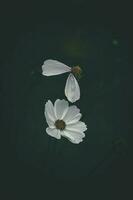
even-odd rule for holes
{"type": "Polygon", "coordinates": [[[60,99],[57,99],[54,104],[54,110],[55,110],[55,115],[57,119],[63,119],[65,114],[67,113],[68,110],[68,102],[60,99]]]}

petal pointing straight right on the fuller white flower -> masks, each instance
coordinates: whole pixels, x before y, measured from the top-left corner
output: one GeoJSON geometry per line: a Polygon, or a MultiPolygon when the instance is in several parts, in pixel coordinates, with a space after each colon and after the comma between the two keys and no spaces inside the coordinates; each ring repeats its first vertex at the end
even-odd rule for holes
{"type": "Polygon", "coordinates": [[[66,129],[70,131],[84,132],[87,130],[87,126],[84,122],[79,121],[75,124],[67,125],[66,129]]]}

